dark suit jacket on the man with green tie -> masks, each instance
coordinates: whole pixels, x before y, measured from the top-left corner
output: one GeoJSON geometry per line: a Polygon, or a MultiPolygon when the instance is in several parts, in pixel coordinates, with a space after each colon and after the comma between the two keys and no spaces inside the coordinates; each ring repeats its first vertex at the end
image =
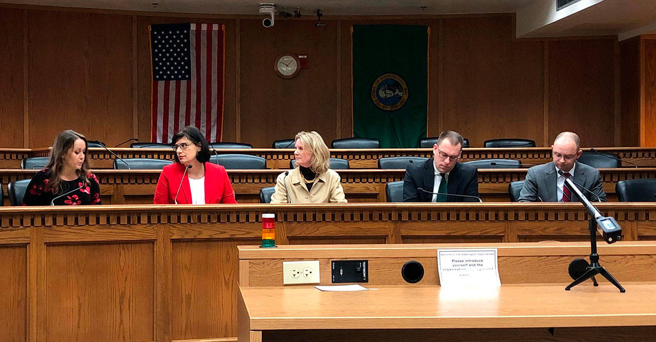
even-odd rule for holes
{"type": "MultiPolygon", "coordinates": [[[[428,158],[424,163],[410,163],[405,169],[403,179],[403,202],[430,202],[433,198],[428,192],[419,192],[417,188],[433,191],[435,184],[435,169],[433,158],[428,158]]],[[[478,195],[478,171],[476,167],[456,163],[449,173],[447,182],[447,193],[457,195],[478,195]]],[[[476,198],[462,198],[458,196],[447,196],[447,202],[478,202],[476,198]]]]}

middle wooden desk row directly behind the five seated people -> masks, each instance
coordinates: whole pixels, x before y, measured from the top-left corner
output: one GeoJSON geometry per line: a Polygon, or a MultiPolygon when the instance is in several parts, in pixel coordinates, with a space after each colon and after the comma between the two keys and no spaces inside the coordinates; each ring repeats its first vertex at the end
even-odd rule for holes
{"type": "MultiPolygon", "coordinates": [[[[228,170],[228,177],[240,203],[259,202],[261,188],[274,186],[276,177],[284,169],[228,170]]],[[[18,179],[32,177],[35,170],[0,169],[0,183],[7,198],[7,185],[18,179]]],[[[152,203],[159,170],[94,169],[100,181],[103,203],[152,203]]],[[[349,202],[386,202],[385,184],[403,181],[403,169],[348,169],[337,170],[349,202]]],[[[625,179],[656,178],[656,167],[623,167],[600,169],[604,191],[609,201],[617,201],[615,184],[625,179]]],[[[478,190],[484,202],[508,202],[508,184],[521,181],[526,169],[479,169],[478,190]]],[[[9,205],[9,198],[5,201],[9,205]]]]}

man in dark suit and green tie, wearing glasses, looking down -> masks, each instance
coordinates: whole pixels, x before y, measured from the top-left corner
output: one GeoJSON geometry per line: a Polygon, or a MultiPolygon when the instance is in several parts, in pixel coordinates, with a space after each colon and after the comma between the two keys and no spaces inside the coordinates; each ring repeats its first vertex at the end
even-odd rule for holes
{"type": "Polygon", "coordinates": [[[403,202],[479,202],[476,167],[457,162],[460,159],[462,142],[464,139],[457,132],[443,131],[437,144],[433,145],[433,158],[428,158],[424,163],[408,165],[403,179],[403,202]]]}

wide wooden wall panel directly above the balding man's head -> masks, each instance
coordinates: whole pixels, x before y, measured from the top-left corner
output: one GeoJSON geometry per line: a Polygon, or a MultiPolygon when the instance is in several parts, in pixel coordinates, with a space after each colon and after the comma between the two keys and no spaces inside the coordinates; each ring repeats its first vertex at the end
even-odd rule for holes
{"type": "Polygon", "coordinates": [[[613,146],[616,39],[549,42],[549,140],[573,131],[582,146],[613,146]]]}

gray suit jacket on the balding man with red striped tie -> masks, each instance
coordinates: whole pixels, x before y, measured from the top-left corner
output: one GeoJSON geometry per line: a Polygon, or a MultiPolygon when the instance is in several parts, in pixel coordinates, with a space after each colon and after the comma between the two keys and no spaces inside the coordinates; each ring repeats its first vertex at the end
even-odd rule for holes
{"type": "MultiPolygon", "coordinates": [[[[554,165],[553,161],[531,167],[526,173],[526,180],[524,181],[518,202],[540,202],[539,198],[544,202],[560,202],[558,190],[556,189],[557,178],[558,173],[556,173],[556,165],[554,165]]],[[[606,194],[602,187],[602,177],[599,174],[599,170],[576,161],[574,175],[571,179],[580,186],[584,186],[594,192],[602,202],[606,202],[606,194]]],[[[597,202],[596,196],[581,189],[580,186],[579,190],[581,190],[590,202],[597,202]]],[[[581,202],[579,196],[574,192],[572,192],[572,202],[581,202]]]]}

